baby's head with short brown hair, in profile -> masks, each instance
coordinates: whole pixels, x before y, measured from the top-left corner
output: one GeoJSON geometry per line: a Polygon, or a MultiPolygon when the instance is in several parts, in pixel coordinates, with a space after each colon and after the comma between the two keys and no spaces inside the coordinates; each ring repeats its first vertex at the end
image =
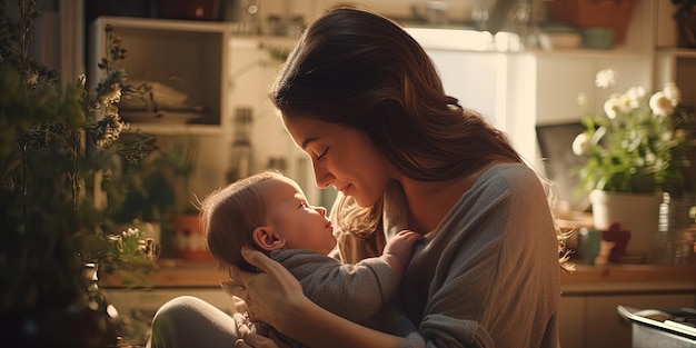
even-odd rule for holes
{"type": "Polygon", "coordinates": [[[326,209],[312,207],[297,182],[264,171],[210,193],[200,220],[219,266],[240,266],[241,247],[261,251],[307,249],[328,253],[336,246],[326,209]]]}

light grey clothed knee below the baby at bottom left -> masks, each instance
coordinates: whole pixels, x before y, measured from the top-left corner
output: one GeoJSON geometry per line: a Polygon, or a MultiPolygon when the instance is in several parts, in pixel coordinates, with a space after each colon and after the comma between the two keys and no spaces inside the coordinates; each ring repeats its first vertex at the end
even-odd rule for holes
{"type": "Polygon", "coordinates": [[[165,304],[152,319],[148,348],[235,347],[239,337],[232,317],[192,296],[165,304]]]}

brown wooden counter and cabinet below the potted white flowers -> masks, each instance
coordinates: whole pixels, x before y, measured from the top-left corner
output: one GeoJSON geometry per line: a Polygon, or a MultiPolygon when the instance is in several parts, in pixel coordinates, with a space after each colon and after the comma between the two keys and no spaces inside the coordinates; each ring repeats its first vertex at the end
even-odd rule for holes
{"type": "Polygon", "coordinates": [[[696,308],[696,265],[578,266],[561,276],[561,347],[628,348],[632,326],[617,306],[696,308]]]}

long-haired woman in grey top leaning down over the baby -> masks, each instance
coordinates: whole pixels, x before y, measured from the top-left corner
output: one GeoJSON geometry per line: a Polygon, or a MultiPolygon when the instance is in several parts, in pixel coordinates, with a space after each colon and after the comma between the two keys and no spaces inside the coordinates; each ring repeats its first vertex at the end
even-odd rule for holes
{"type": "MultiPolygon", "coordinates": [[[[563,238],[544,181],[505,133],[445,95],[401,28],[360,9],[329,11],[300,38],[271,100],[311,158],[317,185],[340,191],[331,213],[337,257],[377,256],[401,229],[425,239],[369,327],[321,309],[282,266],[245,249],[265,272],[233,268],[233,292],[255,319],[310,347],[558,345],[563,238]]],[[[200,315],[215,310],[186,306],[196,309],[186,322],[226,335],[217,316],[200,315]]],[[[186,306],[169,304],[158,318],[173,320],[186,306]]],[[[158,318],[157,340],[169,337],[158,318]]],[[[247,332],[237,347],[276,346],[247,332]]]]}

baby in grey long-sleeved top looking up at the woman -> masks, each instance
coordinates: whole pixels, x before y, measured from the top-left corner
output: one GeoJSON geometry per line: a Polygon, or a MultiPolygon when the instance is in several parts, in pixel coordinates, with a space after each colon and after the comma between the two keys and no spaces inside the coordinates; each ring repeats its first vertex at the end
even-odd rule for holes
{"type": "MultiPolygon", "coordinates": [[[[284,265],[309,299],[356,322],[371,317],[394,295],[414,243],[422,239],[404,230],[389,239],[382,256],[341,264],[327,256],[336,237],[326,209],[310,206],[297,182],[275,171],[213,191],[201,202],[200,217],[219,269],[232,265],[249,269],[241,247],[253,247],[284,265]]],[[[226,281],[221,285],[225,288],[226,281]]],[[[264,325],[245,322],[241,315],[235,319],[267,336],[264,325]]]]}

